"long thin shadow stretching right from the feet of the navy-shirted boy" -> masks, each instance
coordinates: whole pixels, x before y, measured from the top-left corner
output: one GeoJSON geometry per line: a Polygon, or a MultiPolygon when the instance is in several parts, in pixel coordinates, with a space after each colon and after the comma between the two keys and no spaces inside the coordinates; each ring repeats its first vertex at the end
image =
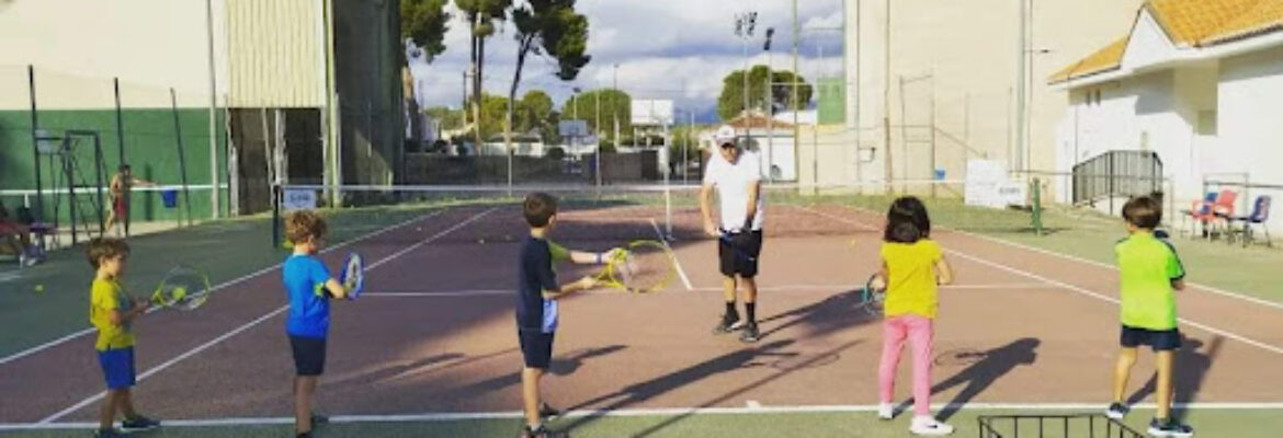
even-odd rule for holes
{"type": "Polygon", "coordinates": [[[793,341],[781,339],[761,345],[754,348],[742,348],[736,350],[703,362],[657,377],[647,382],[639,382],[621,388],[609,394],[599,396],[593,400],[577,403],[568,409],[568,411],[582,410],[588,406],[598,403],[608,403],[594,410],[593,414],[575,419],[572,423],[567,424],[563,430],[572,430],[580,428],[585,424],[597,421],[599,418],[606,415],[606,412],[615,411],[622,407],[645,402],[668,391],[703,380],[711,375],[721,374],[725,371],[731,371],[740,368],[753,368],[762,366],[763,364],[757,361],[762,357],[774,356],[789,356],[792,353],[780,352],[779,350],[792,346],[793,341]]]}

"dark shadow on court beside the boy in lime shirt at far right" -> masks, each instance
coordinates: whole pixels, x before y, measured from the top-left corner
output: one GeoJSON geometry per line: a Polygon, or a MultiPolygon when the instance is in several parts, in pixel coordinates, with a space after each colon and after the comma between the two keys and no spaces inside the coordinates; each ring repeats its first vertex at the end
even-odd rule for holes
{"type": "MultiPolygon", "coordinates": [[[[1177,351],[1175,361],[1175,375],[1171,377],[1171,384],[1175,385],[1175,391],[1171,394],[1171,416],[1177,420],[1184,420],[1188,411],[1188,405],[1193,402],[1194,397],[1198,396],[1198,391],[1202,389],[1203,380],[1207,378],[1207,371],[1211,370],[1211,362],[1220,355],[1220,347],[1225,342],[1221,336],[1214,336],[1211,342],[1207,343],[1206,353],[1198,352],[1202,350],[1202,341],[1194,338],[1184,338],[1180,342],[1180,350],[1177,351]]],[[[1135,405],[1153,396],[1155,391],[1159,388],[1159,374],[1155,371],[1150,375],[1150,380],[1144,383],[1139,389],[1128,397],[1128,405],[1135,405]]]]}

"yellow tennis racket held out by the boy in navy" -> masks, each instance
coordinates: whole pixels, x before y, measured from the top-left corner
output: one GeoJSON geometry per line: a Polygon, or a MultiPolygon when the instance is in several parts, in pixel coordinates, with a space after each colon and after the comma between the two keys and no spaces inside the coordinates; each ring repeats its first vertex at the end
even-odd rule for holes
{"type": "Polygon", "coordinates": [[[674,260],[672,250],[663,242],[635,241],[611,254],[597,278],[626,292],[658,292],[676,275],[674,260]]]}

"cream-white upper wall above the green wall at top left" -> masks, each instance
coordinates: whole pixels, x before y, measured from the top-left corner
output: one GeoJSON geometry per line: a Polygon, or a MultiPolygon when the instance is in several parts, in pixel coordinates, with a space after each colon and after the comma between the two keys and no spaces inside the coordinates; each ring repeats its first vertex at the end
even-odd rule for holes
{"type": "MultiPolygon", "coordinates": [[[[216,55],[226,53],[223,5],[213,1],[216,55]]],[[[12,1],[0,9],[0,109],[28,105],[28,64],[41,108],[108,108],[113,77],[139,100],[126,105],[168,106],[169,87],[180,105],[208,105],[208,44],[203,0],[12,1]]],[[[216,64],[226,90],[226,59],[216,64]]]]}

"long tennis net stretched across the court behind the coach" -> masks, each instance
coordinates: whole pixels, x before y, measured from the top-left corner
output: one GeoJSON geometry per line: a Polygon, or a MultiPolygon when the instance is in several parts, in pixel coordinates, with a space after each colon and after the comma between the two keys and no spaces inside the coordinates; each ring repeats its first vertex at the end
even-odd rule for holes
{"type": "MultiPolygon", "coordinates": [[[[318,209],[331,222],[331,229],[354,233],[387,229],[377,239],[389,242],[417,242],[431,236],[429,231],[435,233],[452,225],[459,227],[435,241],[506,242],[526,234],[521,200],[530,192],[558,197],[553,236],[559,239],[704,238],[701,187],[681,184],[282,186],[276,215],[281,223],[293,209],[318,209]],[[405,225],[393,228],[399,224],[405,225]]],[[[888,205],[905,195],[922,199],[933,220],[947,225],[1021,229],[1030,224],[1026,211],[965,206],[961,182],[763,184],[763,232],[775,238],[880,233],[888,205]]],[[[715,191],[709,202],[715,218],[716,196],[715,191]]],[[[280,231],[277,238],[284,239],[280,231]]]]}

